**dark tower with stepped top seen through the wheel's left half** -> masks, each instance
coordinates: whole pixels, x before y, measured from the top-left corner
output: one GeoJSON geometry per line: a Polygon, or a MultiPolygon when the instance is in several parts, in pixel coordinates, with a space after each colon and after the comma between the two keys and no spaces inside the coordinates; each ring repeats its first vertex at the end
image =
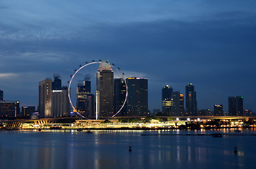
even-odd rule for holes
{"type": "Polygon", "coordinates": [[[94,115],[94,95],[91,94],[91,75],[86,75],[76,87],[76,110],[83,116],[94,115]]]}

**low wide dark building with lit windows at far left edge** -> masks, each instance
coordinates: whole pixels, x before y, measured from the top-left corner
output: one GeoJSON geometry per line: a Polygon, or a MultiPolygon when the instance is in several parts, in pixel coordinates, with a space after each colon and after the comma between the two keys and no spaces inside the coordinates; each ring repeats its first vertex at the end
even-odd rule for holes
{"type": "Polygon", "coordinates": [[[0,117],[14,118],[20,115],[20,101],[0,101],[0,117]]]}

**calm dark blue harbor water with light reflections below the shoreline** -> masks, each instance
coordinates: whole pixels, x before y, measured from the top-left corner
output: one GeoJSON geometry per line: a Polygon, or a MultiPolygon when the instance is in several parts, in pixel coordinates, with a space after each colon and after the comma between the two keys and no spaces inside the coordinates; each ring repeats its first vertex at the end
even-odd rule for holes
{"type": "Polygon", "coordinates": [[[0,132],[0,168],[255,168],[256,130],[0,132]],[[132,144],[132,152],[129,152],[132,144]],[[234,145],[238,152],[234,153],[234,145]]]}

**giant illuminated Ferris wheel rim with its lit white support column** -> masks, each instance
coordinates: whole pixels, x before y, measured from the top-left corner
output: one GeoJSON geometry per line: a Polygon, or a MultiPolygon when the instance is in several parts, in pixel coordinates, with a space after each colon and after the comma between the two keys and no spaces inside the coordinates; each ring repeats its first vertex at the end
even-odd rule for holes
{"type": "MultiPolygon", "coordinates": [[[[115,69],[117,70],[117,72],[120,74],[120,77],[122,78],[122,80],[124,80],[124,84],[125,84],[125,88],[126,88],[126,94],[125,94],[125,99],[124,99],[124,103],[122,104],[121,108],[117,111],[117,112],[113,112],[112,115],[109,115],[108,118],[106,118],[105,120],[108,120],[110,118],[114,118],[118,113],[120,113],[120,111],[122,111],[122,108],[124,108],[124,105],[127,101],[127,96],[128,96],[128,87],[127,87],[127,82],[126,80],[124,79],[124,73],[121,73],[120,72],[120,68],[115,68],[114,64],[110,64],[108,61],[92,61],[91,63],[87,63],[85,65],[80,65],[80,68],[78,68],[78,70],[74,70],[75,73],[74,75],[71,75],[71,80],[68,82],[69,83],[69,87],[68,87],[68,94],[69,94],[69,103],[71,104],[71,108],[73,108],[74,111],[76,111],[76,113],[81,116],[82,118],[86,118],[88,120],[91,120],[90,118],[87,118],[86,116],[82,115],[81,112],[78,111],[78,108],[76,108],[71,100],[71,84],[72,82],[74,81],[74,77],[78,74],[79,71],[81,71],[83,68],[86,68],[87,66],[89,65],[95,65],[95,64],[98,64],[100,65],[101,67],[107,67],[107,68],[111,68],[112,69],[115,69]]],[[[100,68],[99,66],[99,68],[100,68]]],[[[113,72],[113,71],[112,71],[113,72]]],[[[100,118],[100,108],[98,108],[101,104],[100,102],[100,99],[98,96],[99,94],[97,93],[96,91],[96,108],[95,108],[95,118],[96,120],[99,120],[100,118]]]]}

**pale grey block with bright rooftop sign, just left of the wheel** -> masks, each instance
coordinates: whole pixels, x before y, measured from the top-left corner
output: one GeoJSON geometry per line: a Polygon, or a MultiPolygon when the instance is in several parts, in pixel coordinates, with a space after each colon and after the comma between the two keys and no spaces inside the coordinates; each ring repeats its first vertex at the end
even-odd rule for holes
{"type": "Polygon", "coordinates": [[[62,87],[61,90],[52,90],[52,118],[67,116],[70,113],[69,90],[62,87]]]}

